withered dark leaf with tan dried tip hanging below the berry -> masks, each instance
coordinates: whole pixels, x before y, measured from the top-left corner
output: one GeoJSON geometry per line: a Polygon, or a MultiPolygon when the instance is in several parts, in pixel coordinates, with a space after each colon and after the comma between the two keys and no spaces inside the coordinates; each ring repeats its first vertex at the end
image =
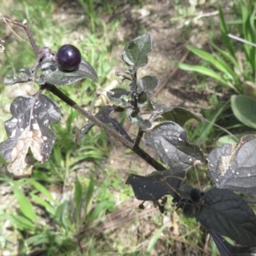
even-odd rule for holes
{"type": "Polygon", "coordinates": [[[18,96],[12,102],[11,119],[4,123],[8,139],[0,143],[0,153],[9,162],[8,171],[14,179],[30,177],[32,166],[27,167],[26,154],[31,148],[40,162],[49,159],[55,143],[55,134],[49,125],[60,122],[61,110],[49,97],[18,96]]]}

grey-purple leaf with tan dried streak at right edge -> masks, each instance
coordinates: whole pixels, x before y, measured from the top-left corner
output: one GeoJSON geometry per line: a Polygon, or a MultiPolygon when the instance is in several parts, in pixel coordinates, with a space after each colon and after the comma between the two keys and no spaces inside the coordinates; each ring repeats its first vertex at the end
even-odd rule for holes
{"type": "Polygon", "coordinates": [[[256,197],[256,135],[241,137],[236,145],[224,144],[208,156],[212,182],[219,189],[231,189],[256,197]]]}

